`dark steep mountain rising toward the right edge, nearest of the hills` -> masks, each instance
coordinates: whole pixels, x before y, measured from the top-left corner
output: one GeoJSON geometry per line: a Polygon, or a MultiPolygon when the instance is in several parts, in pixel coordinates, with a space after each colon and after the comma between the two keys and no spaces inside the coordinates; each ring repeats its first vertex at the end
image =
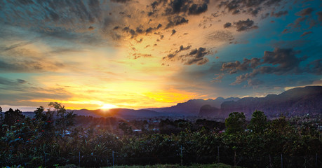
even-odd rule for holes
{"type": "Polygon", "coordinates": [[[269,118],[283,114],[291,116],[316,116],[322,114],[322,86],[296,87],[281,94],[269,94],[266,97],[246,97],[238,101],[223,102],[220,109],[203,106],[199,115],[225,118],[234,111],[245,113],[250,118],[255,110],[263,111],[269,118]]]}

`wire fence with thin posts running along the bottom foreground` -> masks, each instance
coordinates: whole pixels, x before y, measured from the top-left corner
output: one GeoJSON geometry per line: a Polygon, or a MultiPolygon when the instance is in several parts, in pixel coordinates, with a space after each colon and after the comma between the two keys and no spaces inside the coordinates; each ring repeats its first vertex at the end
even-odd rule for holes
{"type": "MultiPolygon", "coordinates": [[[[249,155],[241,155],[235,153],[230,148],[217,146],[217,151],[208,155],[196,155],[191,151],[185,151],[179,148],[173,155],[161,155],[159,153],[141,153],[138,155],[128,155],[124,152],[111,151],[109,153],[95,155],[69,153],[67,155],[51,155],[44,153],[39,162],[43,167],[53,167],[54,165],[76,165],[78,167],[113,167],[114,165],[156,165],[156,164],[176,164],[191,165],[194,163],[224,163],[227,165],[235,165],[241,167],[322,167],[322,155],[260,155],[250,157],[249,155]]],[[[6,163],[14,162],[17,158],[8,158],[1,167],[5,167],[6,163]]],[[[31,165],[23,165],[24,167],[34,167],[30,158],[20,158],[20,162],[29,162],[31,165]]],[[[16,165],[16,164],[15,164],[16,165]]]]}

